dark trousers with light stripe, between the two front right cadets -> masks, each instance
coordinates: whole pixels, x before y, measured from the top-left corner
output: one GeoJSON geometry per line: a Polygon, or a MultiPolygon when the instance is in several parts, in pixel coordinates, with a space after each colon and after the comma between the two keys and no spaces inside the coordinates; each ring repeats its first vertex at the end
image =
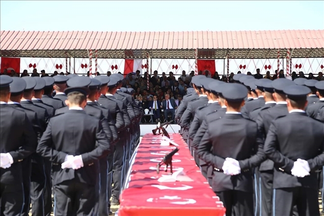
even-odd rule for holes
{"type": "MultiPolygon", "coordinates": [[[[259,197],[261,197],[261,215],[272,216],[272,183],[273,183],[273,170],[259,171],[261,177],[261,191],[259,197]]],[[[259,198],[260,200],[260,198],[259,198]]]]}

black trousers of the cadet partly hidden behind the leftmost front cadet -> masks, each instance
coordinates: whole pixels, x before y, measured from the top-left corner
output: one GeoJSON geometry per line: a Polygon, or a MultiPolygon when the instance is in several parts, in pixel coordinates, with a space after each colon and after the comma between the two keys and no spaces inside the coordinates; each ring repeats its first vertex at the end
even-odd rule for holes
{"type": "Polygon", "coordinates": [[[23,169],[23,188],[24,188],[24,207],[22,216],[29,215],[30,209],[30,175],[31,175],[31,157],[24,159],[22,163],[23,169]]]}

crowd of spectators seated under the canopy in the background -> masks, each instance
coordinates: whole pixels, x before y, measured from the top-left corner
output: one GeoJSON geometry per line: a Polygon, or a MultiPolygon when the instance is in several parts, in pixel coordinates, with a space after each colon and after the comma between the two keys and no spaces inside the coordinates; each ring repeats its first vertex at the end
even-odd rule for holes
{"type": "MultiPolygon", "coordinates": [[[[121,72],[118,72],[121,74],[121,72]]],[[[11,77],[19,76],[18,73],[11,70],[10,73],[7,72],[6,69],[4,69],[3,74],[9,75],[11,77]]],[[[70,73],[66,72],[60,72],[54,71],[52,75],[49,75],[45,72],[45,70],[41,70],[41,73],[39,74],[37,72],[37,69],[34,68],[31,77],[46,77],[51,76],[54,77],[56,75],[68,75],[70,73]]],[[[237,74],[241,74],[241,71],[238,71],[237,74]]],[[[111,72],[108,71],[107,76],[111,75],[111,72]]],[[[104,75],[104,76],[106,76],[104,75]]],[[[231,73],[227,79],[226,75],[219,76],[218,72],[215,72],[215,74],[212,76],[211,73],[206,71],[199,71],[198,75],[205,75],[208,78],[213,78],[215,80],[224,81],[224,82],[234,82],[233,77],[234,73],[231,73]],[[227,81],[228,80],[228,81],[227,81]]],[[[256,74],[253,74],[251,72],[247,72],[246,75],[254,76],[255,79],[270,79],[274,80],[278,76],[279,78],[285,78],[285,74],[283,70],[280,70],[279,73],[277,73],[277,70],[275,70],[275,74],[273,76],[270,76],[270,71],[266,72],[266,75],[260,74],[260,69],[256,69],[256,74]]],[[[24,70],[23,73],[20,75],[20,77],[29,76],[27,73],[27,70],[24,70]]],[[[85,76],[85,75],[83,75],[85,76]]],[[[90,76],[90,72],[87,72],[86,76],[90,76]]],[[[96,72],[94,76],[101,76],[99,72],[96,72]]],[[[154,71],[153,75],[148,75],[147,72],[145,72],[143,75],[140,74],[140,71],[137,70],[135,73],[129,73],[126,75],[123,83],[123,87],[126,88],[133,88],[134,89],[134,99],[139,101],[141,107],[145,110],[148,109],[149,113],[148,115],[144,116],[142,119],[142,123],[150,123],[151,122],[151,116],[153,115],[153,121],[168,121],[168,120],[174,120],[174,113],[175,110],[179,107],[183,96],[187,94],[187,89],[189,87],[192,87],[191,85],[191,79],[194,75],[194,71],[191,71],[189,74],[186,73],[186,71],[182,71],[181,76],[177,76],[176,78],[173,74],[173,72],[169,72],[169,76],[165,74],[165,72],[162,72],[162,76],[158,75],[158,71],[154,71]],[[147,88],[147,78],[149,78],[149,88],[147,88]]],[[[318,80],[323,81],[323,73],[319,72],[318,76],[313,76],[312,73],[308,74],[308,77],[304,75],[302,71],[297,73],[294,71],[292,72],[292,79],[295,80],[296,78],[305,78],[308,80],[318,80]]]]}

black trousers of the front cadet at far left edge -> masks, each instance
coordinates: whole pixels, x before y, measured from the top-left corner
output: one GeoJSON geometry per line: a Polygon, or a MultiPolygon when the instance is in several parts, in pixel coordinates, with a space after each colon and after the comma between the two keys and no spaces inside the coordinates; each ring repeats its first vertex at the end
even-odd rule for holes
{"type": "Polygon", "coordinates": [[[1,216],[21,216],[24,205],[23,183],[0,184],[1,216]]]}

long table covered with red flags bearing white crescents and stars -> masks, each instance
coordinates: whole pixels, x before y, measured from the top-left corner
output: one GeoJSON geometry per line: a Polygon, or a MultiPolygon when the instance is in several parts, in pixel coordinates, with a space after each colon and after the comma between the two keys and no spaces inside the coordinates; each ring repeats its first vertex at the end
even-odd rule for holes
{"type": "MultiPolygon", "coordinates": [[[[190,155],[182,136],[170,134],[179,151],[172,157],[173,172],[183,168],[192,182],[159,182],[164,165],[157,164],[175,146],[161,146],[162,135],[146,134],[132,158],[118,216],[224,216],[223,203],[215,195],[190,155]]],[[[168,168],[168,173],[170,169],[168,168]]]]}

